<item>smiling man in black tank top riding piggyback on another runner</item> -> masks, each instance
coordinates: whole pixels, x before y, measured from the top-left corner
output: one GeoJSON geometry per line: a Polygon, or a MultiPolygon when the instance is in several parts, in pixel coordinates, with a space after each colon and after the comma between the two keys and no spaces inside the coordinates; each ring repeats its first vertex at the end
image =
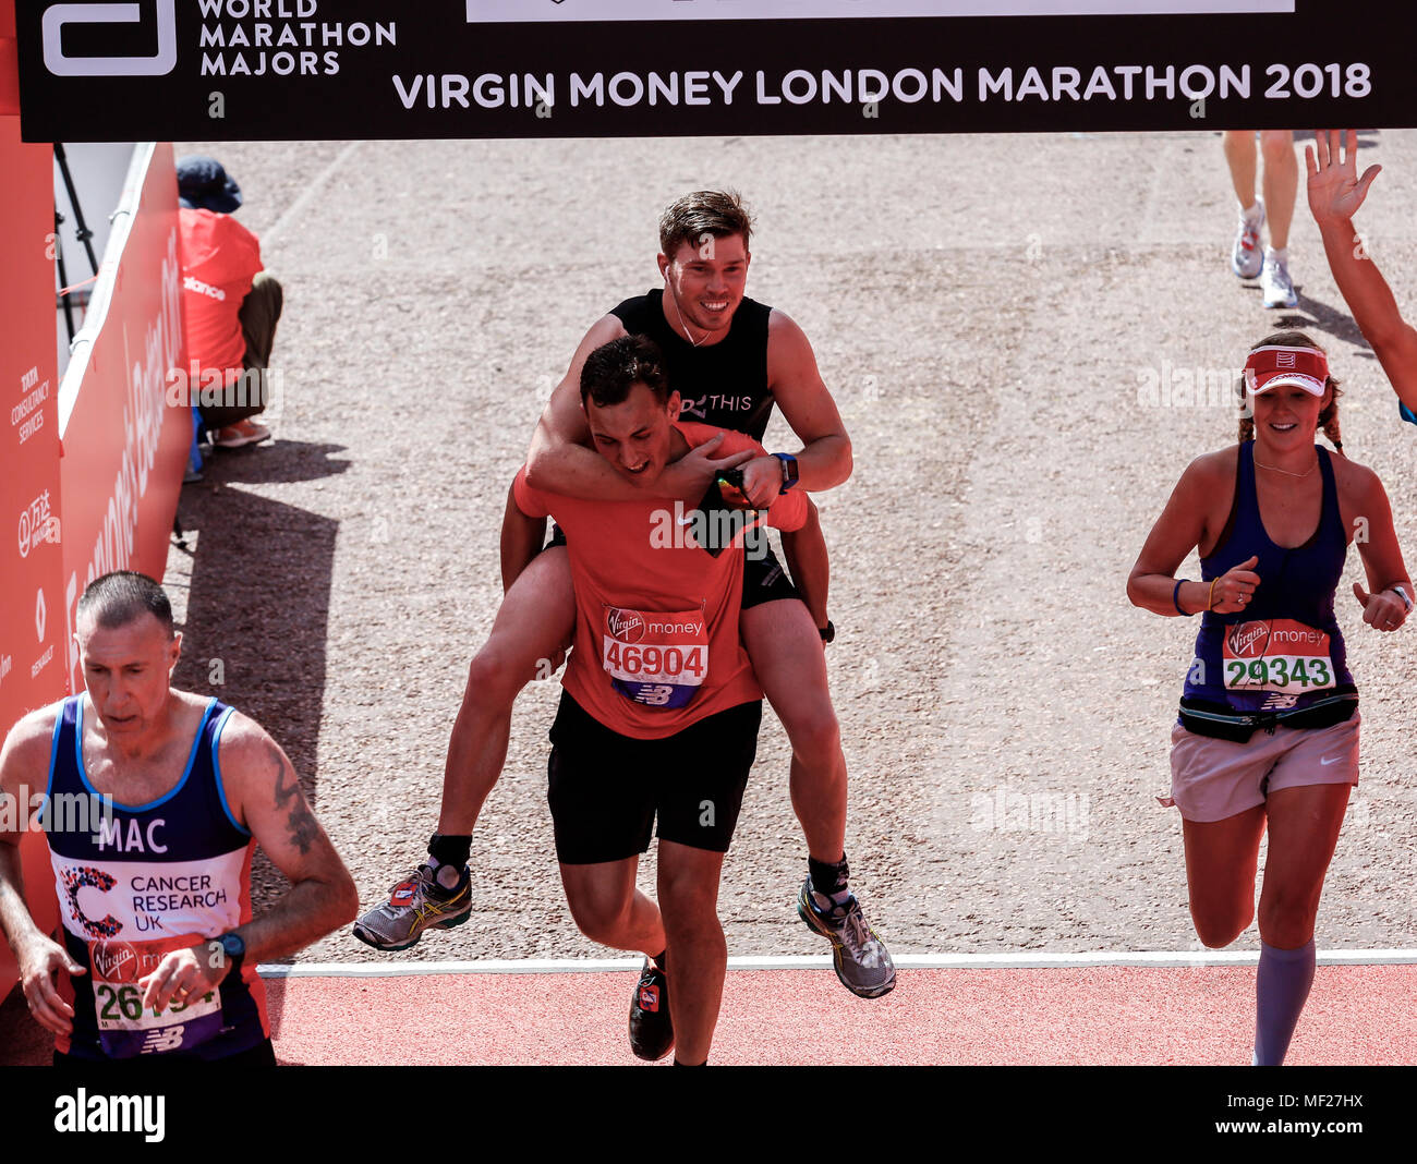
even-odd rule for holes
{"type": "MultiPolygon", "coordinates": [[[[697,191],[665,211],[657,256],[665,286],[619,303],[581,340],[537,423],[527,457],[531,487],[606,501],[639,494],[588,447],[580,392],[587,357],[628,334],[646,334],[663,350],[669,385],[683,399],[686,421],[761,439],[777,404],[802,442],[795,453],[716,459],[720,439],[710,440],[665,469],[656,491],[696,506],[721,469],[741,467],[748,500],[767,508],[784,490],[826,490],[850,476],[852,442],[806,336],[782,312],[744,296],[751,232],[734,194],[697,191]]],[[[503,525],[507,596],[492,637],[472,663],[448,748],[438,833],[417,875],[417,899],[391,898],[354,929],[380,949],[407,949],[424,929],[458,925],[472,908],[465,862],[478,811],[506,755],[512,704],[527,681],[555,670],[574,627],[564,549],[551,547],[527,564],[529,547],[540,547],[543,528],[544,523],[526,520],[509,498],[503,525]]],[[[826,616],[828,557],[815,506],[809,504],[808,524],[784,535],[782,545],[796,586],[771,555],[748,564],[740,633],[792,742],[792,804],[808,841],[798,913],[830,940],[837,977],[847,990],[873,998],[894,987],[896,969],[847,882],[846,759],[826,683],[823,643],[835,629],[826,616]]]]}

